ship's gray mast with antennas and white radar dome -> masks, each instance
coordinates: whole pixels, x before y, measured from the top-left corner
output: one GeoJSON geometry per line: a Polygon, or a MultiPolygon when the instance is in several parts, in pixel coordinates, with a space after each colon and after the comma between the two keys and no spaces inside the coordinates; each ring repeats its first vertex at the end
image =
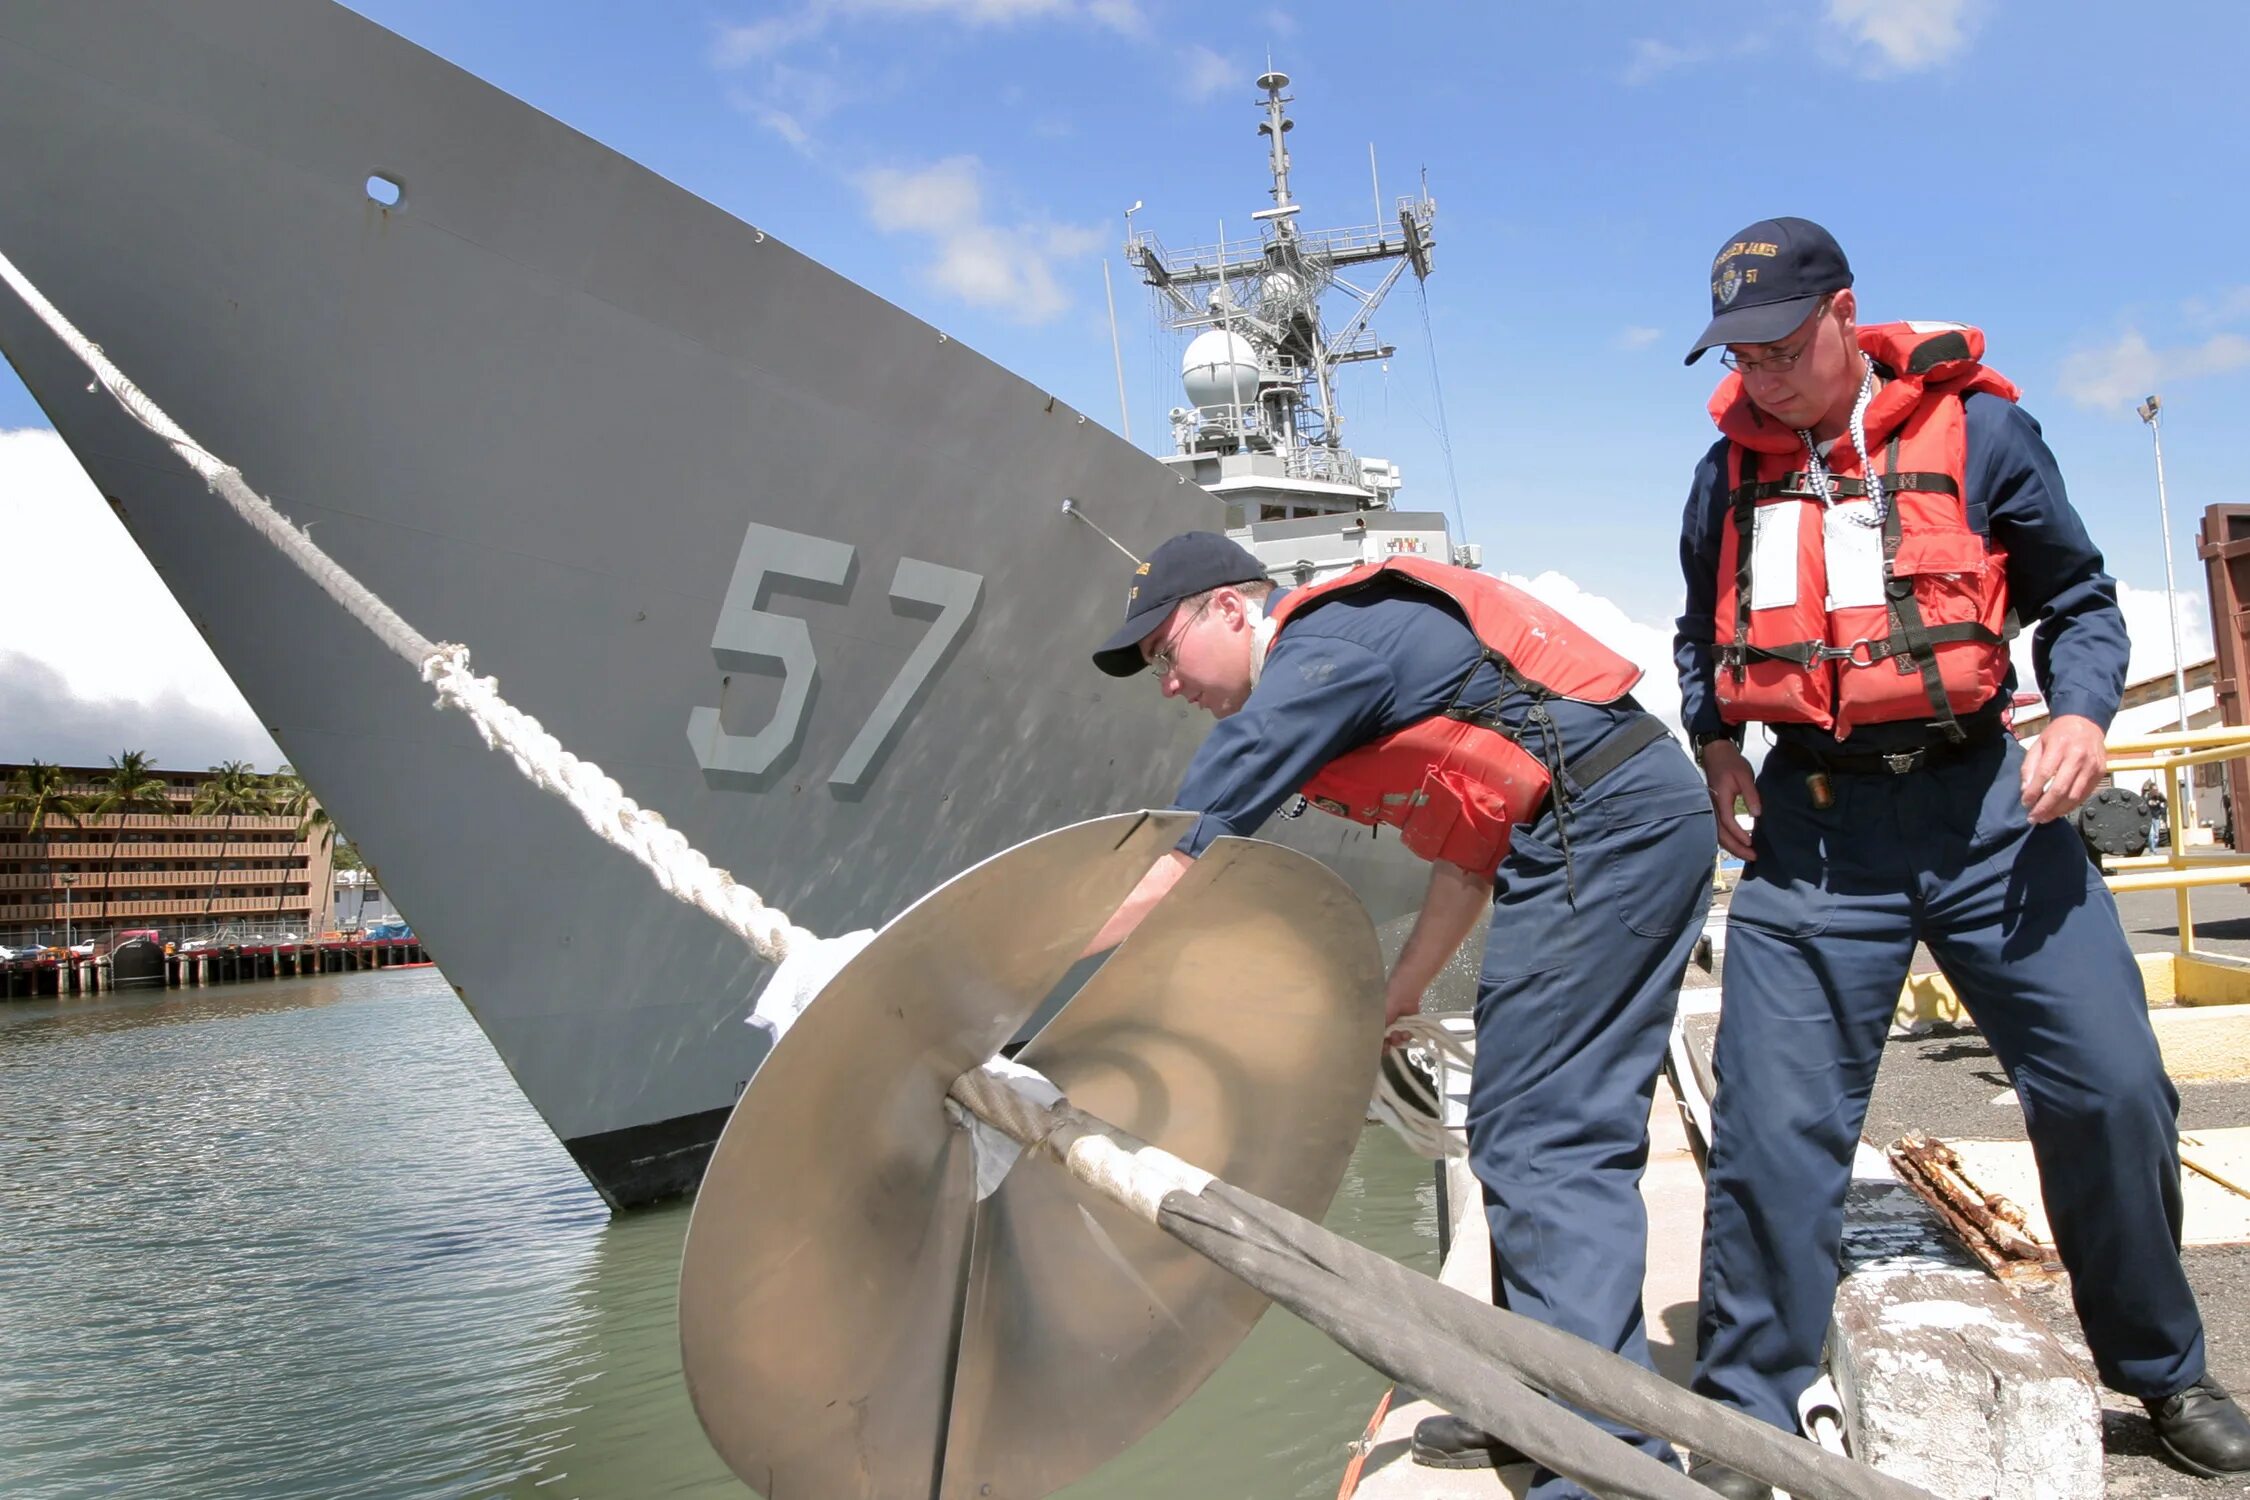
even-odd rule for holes
{"type": "Polygon", "coordinates": [[[1274,175],[1271,207],[1251,214],[1258,236],[1228,241],[1222,229],[1215,245],[1168,252],[1143,229],[1125,243],[1125,259],[1154,288],[1166,324],[1197,335],[1181,371],[1192,405],[1172,412],[1179,454],[1170,463],[1220,459],[1210,477],[1197,472],[1215,493],[1238,486],[1213,479],[1282,479],[1287,493],[1260,506],[1269,519],[1276,510],[1386,508],[1400,488],[1397,470],[1343,445],[1336,371],[1390,358],[1370,319],[1408,270],[1429,277],[1438,205],[1424,191],[1397,200],[1397,223],[1300,229],[1303,205],[1289,193],[1287,137],[1296,126],[1287,112],[1289,74],[1267,72],[1258,88],[1264,90],[1258,133],[1267,137],[1274,175]],[[1357,268],[1382,274],[1359,286],[1343,274],[1357,268]],[[1334,333],[1321,317],[1332,290],[1352,304],[1334,333]]]}

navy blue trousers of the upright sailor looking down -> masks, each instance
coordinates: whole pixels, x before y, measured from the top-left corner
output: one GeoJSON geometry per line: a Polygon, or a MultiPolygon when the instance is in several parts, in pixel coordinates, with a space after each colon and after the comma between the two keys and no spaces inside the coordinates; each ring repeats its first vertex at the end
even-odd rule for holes
{"type": "Polygon", "coordinates": [[[2178,1093],[2117,904],[2068,823],[2032,828],[2012,738],[1906,776],[1775,749],[1728,913],[1694,1388],[1796,1430],[1836,1298],[1843,1199],[1915,940],[2007,1068],[2102,1381],[2203,1376],[2180,1271],[2178,1093]]]}

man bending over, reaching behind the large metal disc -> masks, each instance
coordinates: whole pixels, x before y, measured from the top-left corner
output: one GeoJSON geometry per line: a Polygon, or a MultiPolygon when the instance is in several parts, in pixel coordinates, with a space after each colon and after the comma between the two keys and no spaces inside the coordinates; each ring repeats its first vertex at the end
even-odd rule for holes
{"type": "MultiPolygon", "coordinates": [[[[1235,542],[1190,531],[1134,576],[1094,654],[1154,670],[1220,720],[1177,807],[1199,814],[1089,951],[1120,942],[1222,834],[1298,789],[1395,828],[1431,864],[1386,1019],[1413,1014],[1478,915],[1469,1163],[1485,1187],[1494,1300],[1649,1363],[1640,1172],[1649,1097],[1688,951],[1710,904],[1710,803],[1631,699],[1640,670],[1532,596],[1469,569],[1393,560],[1276,591],[1235,542]]],[[[1372,1003],[1372,996],[1370,996],[1372,1003]]],[[[1620,1437],[1670,1457],[1638,1433],[1620,1437]]],[[[1519,1462],[1456,1417],[1418,1462],[1519,1462]]],[[[1541,1471],[1534,1496],[1580,1496],[1541,1471]]]]}

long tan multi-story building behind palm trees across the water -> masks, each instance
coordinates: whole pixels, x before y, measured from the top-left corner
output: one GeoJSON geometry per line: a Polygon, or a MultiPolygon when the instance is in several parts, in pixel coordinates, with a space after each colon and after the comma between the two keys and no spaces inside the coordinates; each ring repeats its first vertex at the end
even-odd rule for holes
{"type": "MultiPolygon", "coordinates": [[[[18,767],[0,765],[0,792],[18,767]]],[[[63,767],[90,803],[108,767],[63,767]]],[[[328,924],[328,848],[292,816],[194,816],[212,771],[151,769],[171,812],[50,816],[38,837],[0,810],[0,945],[79,942],[153,927],[166,940],[218,929],[310,936],[328,924]]]]}

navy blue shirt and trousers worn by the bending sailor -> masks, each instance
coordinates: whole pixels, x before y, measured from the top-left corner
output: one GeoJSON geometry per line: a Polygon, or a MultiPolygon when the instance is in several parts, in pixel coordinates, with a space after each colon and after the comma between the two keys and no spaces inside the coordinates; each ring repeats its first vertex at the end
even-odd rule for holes
{"type": "MultiPolygon", "coordinates": [[[[1242,711],[1204,740],[1177,805],[1202,814],[1179,848],[1253,834],[1336,756],[1501,697],[1467,621],[1418,591],[1366,589],[1294,616],[1242,711]]],[[[1530,699],[1501,697],[1519,724],[1530,699]]],[[[1564,760],[1640,715],[1629,699],[1548,704],[1564,760]]],[[[1523,744],[1544,758],[1539,731],[1523,744]]],[[[1714,832],[1703,778],[1670,735],[1519,825],[1494,877],[1476,992],[1469,1163],[1485,1187],[1494,1300],[1649,1363],[1640,1311],[1649,1100],[1681,972],[1710,906],[1714,832]],[[1568,816],[1570,873],[1562,830],[1568,816]],[[1568,886],[1575,882],[1575,900],[1568,886]]],[[[1328,816],[1328,814],[1318,814],[1328,816]]],[[[1618,1430],[1618,1428],[1611,1428],[1618,1430]]],[[[1656,1439],[1627,1435],[1654,1455],[1656,1439]]],[[[1582,1496],[1541,1473],[1541,1500],[1582,1496]]]]}

